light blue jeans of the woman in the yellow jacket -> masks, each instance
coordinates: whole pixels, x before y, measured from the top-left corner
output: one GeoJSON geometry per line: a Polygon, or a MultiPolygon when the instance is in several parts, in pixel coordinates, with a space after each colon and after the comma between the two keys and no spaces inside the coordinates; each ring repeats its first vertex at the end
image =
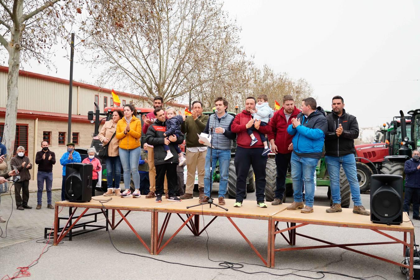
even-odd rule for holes
{"type": "Polygon", "coordinates": [[[121,164],[123,165],[123,178],[124,187],[126,190],[130,189],[130,172],[133,177],[134,188],[138,190],[140,188],[140,175],[139,175],[139,158],[140,158],[140,147],[135,149],[126,150],[118,148],[118,154],[120,155],[121,164]]]}

